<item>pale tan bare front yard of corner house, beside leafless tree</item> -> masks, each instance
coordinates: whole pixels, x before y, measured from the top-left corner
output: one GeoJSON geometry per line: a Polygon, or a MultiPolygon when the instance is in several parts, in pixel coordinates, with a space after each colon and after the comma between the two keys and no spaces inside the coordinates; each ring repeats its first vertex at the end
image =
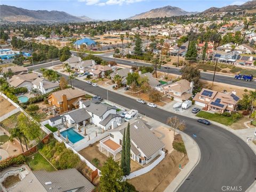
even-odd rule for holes
{"type": "Polygon", "coordinates": [[[168,128],[159,126],[156,129],[153,130],[153,133],[158,137],[164,144],[165,149],[168,150],[168,154],[170,154],[173,151],[172,142],[174,139],[173,131],[169,131],[168,128]]]}

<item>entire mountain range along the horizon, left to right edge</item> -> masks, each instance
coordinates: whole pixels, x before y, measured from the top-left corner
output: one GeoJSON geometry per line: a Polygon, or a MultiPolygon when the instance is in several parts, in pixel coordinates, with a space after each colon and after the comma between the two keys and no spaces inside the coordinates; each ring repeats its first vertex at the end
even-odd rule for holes
{"type": "MultiPolygon", "coordinates": [[[[256,12],[256,0],[246,2],[242,5],[229,5],[225,7],[211,7],[202,14],[212,14],[219,12],[234,12],[237,10],[255,10],[256,12]]],[[[191,15],[198,12],[188,12],[174,6],[165,6],[157,9],[150,10],[148,12],[134,15],[127,19],[145,19],[145,18],[158,18],[158,17],[172,17],[179,15],[191,15]]],[[[27,10],[15,6],[0,5],[0,19],[1,21],[10,22],[86,22],[86,21],[99,21],[91,19],[86,16],[76,17],[63,11],[46,11],[46,10],[27,10]]],[[[104,20],[106,21],[106,20],[104,20]]]]}

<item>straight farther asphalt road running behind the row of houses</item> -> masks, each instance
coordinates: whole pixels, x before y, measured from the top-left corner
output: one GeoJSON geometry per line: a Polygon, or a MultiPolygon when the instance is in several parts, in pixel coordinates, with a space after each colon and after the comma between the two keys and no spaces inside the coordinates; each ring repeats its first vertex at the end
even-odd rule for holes
{"type": "MultiPolygon", "coordinates": [[[[76,55],[76,52],[71,51],[74,55],[76,55]]],[[[109,58],[106,57],[104,55],[97,55],[98,57],[101,57],[103,60],[106,61],[114,61],[114,58],[109,58]]],[[[135,62],[135,63],[131,63],[131,61],[128,60],[123,60],[123,59],[116,59],[116,62],[119,64],[123,64],[123,65],[128,65],[128,66],[133,66],[133,65],[137,65],[137,66],[151,66],[150,63],[143,63],[143,62],[135,62]]],[[[61,64],[60,61],[53,61],[53,65],[59,65],[61,64]]],[[[52,62],[46,63],[46,64],[41,64],[41,65],[35,65],[35,66],[30,66],[28,67],[29,69],[40,69],[42,67],[50,67],[52,66],[52,62]]],[[[170,73],[170,74],[177,74],[177,75],[181,75],[180,73],[180,69],[179,68],[173,68],[170,67],[170,69],[166,69],[164,67],[161,67],[161,69],[158,69],[159,71],[163,71],[165,73],[170,73]]],[[[207,81],[212,81],[213,79],[213,74],[211,73],[205,73],[203,71],[201,71],[201,79],[207,80],[207,81]]],[[[230,85],[237,85],[237,86],[244,86],[244,87],[249,87],[252,89],[256,89],[256,82],[247,82],[247,81],[241,81],[241,80],[237,80],[234,79],[233,77],[229,77],[229,76],[223,76],[223,75],[215,75],[215,82],[220,82],[220,83],[226,83],[226,84],[230,84],[230,85]]]]}

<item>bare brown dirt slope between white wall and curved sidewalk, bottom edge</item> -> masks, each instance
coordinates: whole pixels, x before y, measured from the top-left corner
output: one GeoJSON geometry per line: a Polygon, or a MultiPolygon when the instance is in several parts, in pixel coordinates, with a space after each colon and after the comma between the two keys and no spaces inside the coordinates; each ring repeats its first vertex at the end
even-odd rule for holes
{"type": "Polygon", "coordinates": [[[184,167],[188,163],[188,157],[177,150],[167,154],[150,172],[128,180],[140,192],[164,191],[171,181],[180,172],[179,164],[184,167]]]}

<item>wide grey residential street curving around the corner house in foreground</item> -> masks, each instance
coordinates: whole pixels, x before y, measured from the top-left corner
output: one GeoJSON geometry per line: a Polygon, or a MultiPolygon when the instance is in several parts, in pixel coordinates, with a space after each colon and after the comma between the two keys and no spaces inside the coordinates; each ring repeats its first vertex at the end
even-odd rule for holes
{"type": "MultiPolygon", "coordinates": [[[[107,99],[107,90],[101,87],[93,87],[77,79],[74,80],[74,86],[107,99]]],[[[137,109],[139,113],[162,123],[166,123],[167,117],[177,115],[140,105],[135,100],[112,91],[108,91],[108,96],[110,101],[126,108],[137,109]]],[[[256,177],[256,156],[244,141],[218,126],[207,126],[197,123],[195,119],[177,116],[186,121],[185,133],[190,136],[197,135],[195,141],[201,150],[198,165],[178,191],[222,191],[222,186],[241,186],[241,191],[245,191],[250,187],[256,177]]]]}

